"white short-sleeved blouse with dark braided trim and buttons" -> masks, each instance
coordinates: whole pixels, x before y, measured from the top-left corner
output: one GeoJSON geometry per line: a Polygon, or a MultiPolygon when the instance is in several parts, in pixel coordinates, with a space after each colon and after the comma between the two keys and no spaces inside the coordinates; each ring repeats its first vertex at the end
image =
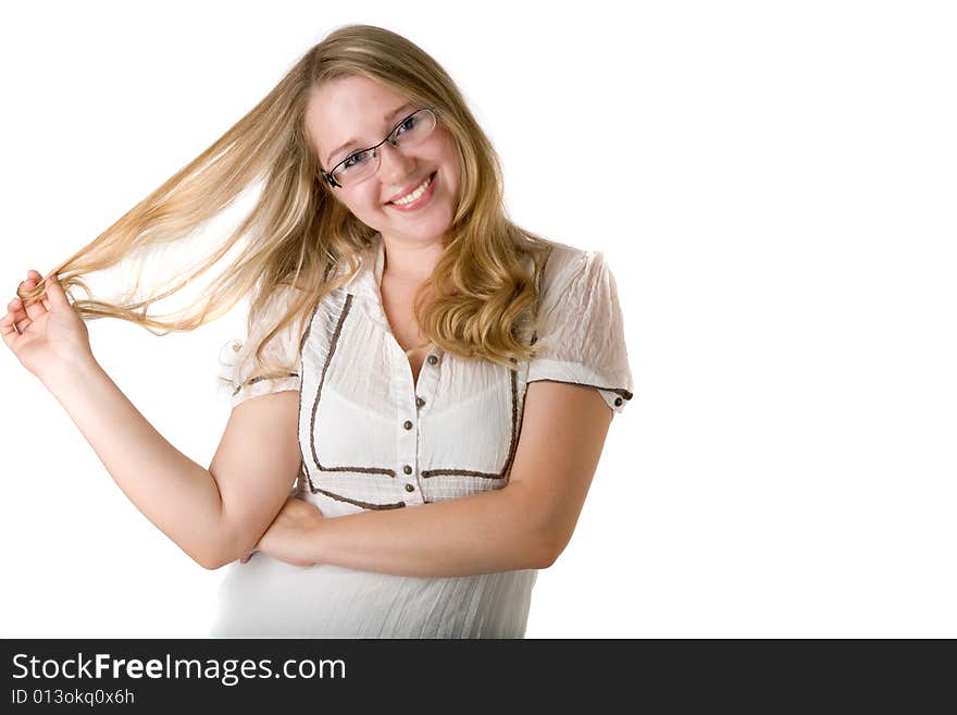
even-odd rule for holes
{"type": "MultiPolygon", "coordinates": [[[[534,360],[514,371],[433,347],[418,382],[383,309],[383,259],[376,234],[359,272],[320,301],[304,333],[289,329],[270,343],[265,352],[298,372],[250,379],[261,333],[249,335],[232,366],[233,407],[299,392],[302,463],[290,493],[325,517],[501,489],[530,382],[593,386],[614,412],[632,398],[616,282],[600,252],[563,244],[552,250],[539,284],[534,360]]],[[[281,307],[282,294],[271,300],[281,307]]],[[[226,567],[211,634],[522,638],[536,575],[419,578],[295,567],[258,553],[226,567]]]]}

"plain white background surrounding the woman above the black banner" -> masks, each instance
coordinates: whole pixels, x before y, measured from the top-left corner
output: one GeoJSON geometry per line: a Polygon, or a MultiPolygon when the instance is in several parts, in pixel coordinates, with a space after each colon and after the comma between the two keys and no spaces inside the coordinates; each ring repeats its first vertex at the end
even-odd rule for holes
{"type": "MultiPolygon", "coordinates": [[[[957,637],[948,5],[3,3],[4,308],[326,33],[387,27],[459,83],[513,220],[618,280],[635,397],[526,636],[957,637]]],[[[241,320],[88,325],[207,466],[241,320]]],[[[0,380],[0,636],[204,636],[221,572],[139,514],[5,346],[0,380]]]]}

